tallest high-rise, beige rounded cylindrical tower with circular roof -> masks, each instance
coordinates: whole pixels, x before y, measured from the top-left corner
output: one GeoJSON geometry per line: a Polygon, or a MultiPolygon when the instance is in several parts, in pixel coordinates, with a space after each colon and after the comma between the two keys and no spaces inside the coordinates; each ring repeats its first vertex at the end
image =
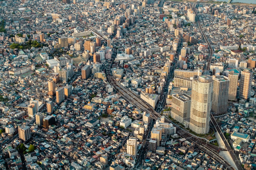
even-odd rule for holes
{"type": "Polygon", "coordinates": [[[212,87],[211,76],[194,76],[189,128],[197,134],[207,134],[210,130],[212,87]]]}

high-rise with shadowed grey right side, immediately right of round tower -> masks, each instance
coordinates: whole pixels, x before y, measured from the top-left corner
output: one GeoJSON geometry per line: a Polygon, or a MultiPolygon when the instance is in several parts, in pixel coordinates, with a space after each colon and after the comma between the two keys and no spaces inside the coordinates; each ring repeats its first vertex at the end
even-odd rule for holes
{"type": "Polygon", "coordinates": [[[212,106],[211,111],[216,114],[226,113],[228,107],[228,77],[223,75],[214,75],[212,90],[212,106]]]}

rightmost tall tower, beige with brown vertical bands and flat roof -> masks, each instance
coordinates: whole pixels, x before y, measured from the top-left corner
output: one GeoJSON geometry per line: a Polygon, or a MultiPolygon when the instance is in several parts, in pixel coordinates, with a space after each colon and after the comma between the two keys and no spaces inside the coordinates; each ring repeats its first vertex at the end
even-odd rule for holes
{"type": "Polygon", "coordinates": [[[243,69],[241,71],[239,84],[239,99],[247,100],[251,97],[252,89],[252,71],[250,69],[243,69]]]}

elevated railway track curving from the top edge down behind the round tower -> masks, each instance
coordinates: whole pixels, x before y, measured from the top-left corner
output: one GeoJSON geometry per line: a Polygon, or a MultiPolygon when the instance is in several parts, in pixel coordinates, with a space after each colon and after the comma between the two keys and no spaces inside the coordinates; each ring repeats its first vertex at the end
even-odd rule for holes
{"type": "Polygon", "coordinates": [[[202,29],[201,22],[199,20],[199,17],[197,15],[197,11],[196,11],[196,4],[197,3],[193,3],[191,5],[191,7],[192,7],[193,11],[195,12],[195,15],[196,15],[195,20],[197,21],[198,28],[199,28],[199,30],[200,30],[203,38],[204,38],[204,41],[207,43],[209,51],[210,51],[210,54],[209,54],[209,57],[208,57],[208,61],[207,61],[207,64],[206,64],[206,69],[205,69],[205,72],[204,72],[204,74],[209,74],[210,65],[211,65],[211,59],[212,59],[212,55],[213,55],[213,49],[211,47],[210,42],[208,41],[208,38],[206,37],[206,35],[205,35],[205,33],[204,33],[203,29],[202,29]]]}

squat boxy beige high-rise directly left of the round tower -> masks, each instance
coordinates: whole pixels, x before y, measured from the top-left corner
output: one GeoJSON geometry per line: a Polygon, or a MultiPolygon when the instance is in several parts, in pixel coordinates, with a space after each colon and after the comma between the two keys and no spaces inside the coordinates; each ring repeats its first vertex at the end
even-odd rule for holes
{"type": "Polygon", "coordinates": [[[172,96],[171,116],[177,122],[183,124],[190,117],[191,97],[184,93],[177,93],[172,96]]]}

